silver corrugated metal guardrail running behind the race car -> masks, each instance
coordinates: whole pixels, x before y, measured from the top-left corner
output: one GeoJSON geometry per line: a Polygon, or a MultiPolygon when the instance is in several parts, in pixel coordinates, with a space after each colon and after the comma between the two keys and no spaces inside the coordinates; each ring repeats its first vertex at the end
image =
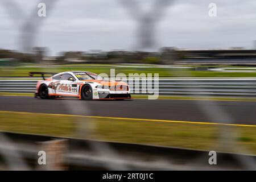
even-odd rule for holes
{"type": "MultiPolygon", "coordinates": [[[[24,79],[0,80],[0,92],[33,93],[36,82],[24,79]]],[[[152,86],[154,88],[154,84],[152,86]]],[[[141,86],[135,88],[134,94],[147,94],[141,90],[141,86]]],[[[256,96],[256,78],[160,78],[159,94],[256,96]]]]}

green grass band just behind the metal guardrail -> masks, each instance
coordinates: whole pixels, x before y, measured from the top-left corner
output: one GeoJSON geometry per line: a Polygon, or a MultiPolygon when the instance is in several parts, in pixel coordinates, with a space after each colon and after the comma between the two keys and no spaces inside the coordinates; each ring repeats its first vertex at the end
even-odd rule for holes
{"type": "MultiPolygon", "coordinates": [[[[71,67],[68,65],[63,67],[11,67],[0,68],[0,77],[3,76],[28,76],[28,72],[64,72],[71,70],[90,71],[97,74],[107,73],[110,75],[111,67],[71,67]]],[[[174,68],[115,68],[115,74],[125,73],[127,76],[129,73],[158,73],[160,77],[256,77],[256,72],[216,72],[216,71],[194,71],[193,69],[174,69],[174,68]]]]}

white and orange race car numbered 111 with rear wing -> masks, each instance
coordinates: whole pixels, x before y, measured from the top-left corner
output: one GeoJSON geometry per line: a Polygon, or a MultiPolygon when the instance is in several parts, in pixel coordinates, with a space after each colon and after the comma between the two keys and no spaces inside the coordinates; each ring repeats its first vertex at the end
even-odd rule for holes
{"type": "Polygon", "coordinates": [[[43,78],[36,84],[35,97],[44,99],[73,97],[80,100],[125,100],[131,98],[126,82],[104,80],[92,72],[30,72],[29,75],[42,75],[43,78]],[[46,78],[46,75],[51,75],[51,77],[46,78]]]}

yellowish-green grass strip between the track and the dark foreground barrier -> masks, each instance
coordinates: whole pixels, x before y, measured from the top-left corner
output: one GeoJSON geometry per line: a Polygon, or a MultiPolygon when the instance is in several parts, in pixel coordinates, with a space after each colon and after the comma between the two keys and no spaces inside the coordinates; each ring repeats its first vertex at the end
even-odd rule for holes
{"type": "Polygon", "coordinates": [[[106,118],[84,118],[67,115],[0,112],[0,130],[86,138],[113,142],[155,144],[256,154],[256,127],[218,126],[193,123],[131,121],[106,118]],[[220,131],[236,134],[231,142],[220,138],[220,131]],[[226,143],[228,142],[228,143],[226,143]],[[225,147],[225,146],[229,147],[225,147]],[[238,146],[241,151],[230,146],[238,146]]]}

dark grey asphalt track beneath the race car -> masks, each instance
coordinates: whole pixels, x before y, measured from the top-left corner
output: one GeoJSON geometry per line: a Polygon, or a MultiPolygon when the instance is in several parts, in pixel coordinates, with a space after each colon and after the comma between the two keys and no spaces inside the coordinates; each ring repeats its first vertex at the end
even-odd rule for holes
{"type": "Polygon", "coordinates": [[[141,99],[81,101],[0,96],[0,111],[256,124],[256,102],[141,99]]]}

